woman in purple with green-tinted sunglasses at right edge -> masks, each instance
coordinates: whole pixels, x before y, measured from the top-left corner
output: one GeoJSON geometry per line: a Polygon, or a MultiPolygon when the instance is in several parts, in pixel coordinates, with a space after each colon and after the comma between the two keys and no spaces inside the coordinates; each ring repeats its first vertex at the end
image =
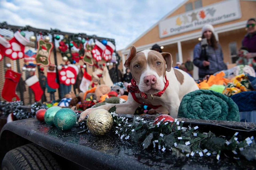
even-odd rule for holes
{"type": "Polygon", "coordinates": [[[254,58],[256,60],[256,20],[254,18],[250,18],[247,21],[246,30],[247,34],[242,41],[242,46],[247,47],[248,52],[245,57],[246,58],[254,58]]]}

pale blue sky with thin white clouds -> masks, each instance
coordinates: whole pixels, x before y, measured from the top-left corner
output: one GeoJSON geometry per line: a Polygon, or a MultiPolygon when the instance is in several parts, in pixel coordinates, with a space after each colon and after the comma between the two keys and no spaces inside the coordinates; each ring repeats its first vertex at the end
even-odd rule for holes
{"type": "Polygon", "coordinates": [[[115,39],[121,50],[184,0],[0,0],[0,22],[115,39]]]}

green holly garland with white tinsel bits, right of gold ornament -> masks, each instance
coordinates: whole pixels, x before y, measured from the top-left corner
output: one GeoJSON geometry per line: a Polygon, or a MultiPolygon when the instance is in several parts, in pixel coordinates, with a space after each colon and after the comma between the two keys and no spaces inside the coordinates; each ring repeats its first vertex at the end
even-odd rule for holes
{"type": "MultiPolygon", "coordinates": [[[[184,127],[184,121],[174,122],[158,120],[144,120],[139,116],[134,116],[129,120],[126,117],[118,117],[115,107],[109,112],[113,116],[113,131],[122,140],[131,140],[142,145],[144,149],[156,148],[163,152],[172,151],[177,156],[215,156],[220,159],[221,153],[231,155],[234,159],[240,159],[243,155],[247,160],[256,160],[256,145],[254,137],[247,137],[243,141],[238,141],[236,132],[230,139],[224,136],[217,137],[209,131],[203,132],[198,126],[184,127]],[[250,152],[250,154],[248,154],[250,152]]],[[[78,125],[87,130],[86,118],[78,125]]],[[[79,133],[81,133],[79,132],[79,133]]]]}

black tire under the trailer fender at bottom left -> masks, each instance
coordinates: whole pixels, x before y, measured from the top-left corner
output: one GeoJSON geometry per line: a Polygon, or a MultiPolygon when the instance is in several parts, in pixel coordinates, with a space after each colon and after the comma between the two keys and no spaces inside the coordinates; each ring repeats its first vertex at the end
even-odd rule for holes
{"type": "Polygon", "coordinates": [[[2,170],[49,169],[60,170],[51,153],[34,143],[10,150],[2,161],[2,170]]]}

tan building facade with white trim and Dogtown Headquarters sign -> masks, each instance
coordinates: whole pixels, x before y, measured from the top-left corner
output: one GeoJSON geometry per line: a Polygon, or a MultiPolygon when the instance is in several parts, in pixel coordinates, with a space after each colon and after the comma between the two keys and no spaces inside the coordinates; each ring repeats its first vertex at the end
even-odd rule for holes
{"type": "MultiPolygon", "coordinates": [[[[255,9],[253,0],[187,0],[121,50],[122,61],[125,62],[131,45],[139,52],[156,43],[163,46],[163,52],[171,53],[174,64],[186,62],[187,58],[193,61],[193,49],[202,36],[203,25],[212,24],[224,62],[228,68],[233,67],[246,35],[246,22],[256,17],[255,9]]],[[[193,77],[198,79],[197,67],[193,77]]]]}

